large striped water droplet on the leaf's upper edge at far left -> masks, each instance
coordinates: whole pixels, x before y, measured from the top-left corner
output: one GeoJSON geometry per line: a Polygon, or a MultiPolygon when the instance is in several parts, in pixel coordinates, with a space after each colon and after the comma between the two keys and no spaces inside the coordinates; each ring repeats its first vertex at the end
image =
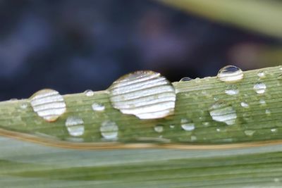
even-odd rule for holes
{"type": "Polygon", "coordinates": [[[33,111],[49,122],[57,120],[66,111],[63,96],[53,89],[42,89],[30,97],[33,111]]]}

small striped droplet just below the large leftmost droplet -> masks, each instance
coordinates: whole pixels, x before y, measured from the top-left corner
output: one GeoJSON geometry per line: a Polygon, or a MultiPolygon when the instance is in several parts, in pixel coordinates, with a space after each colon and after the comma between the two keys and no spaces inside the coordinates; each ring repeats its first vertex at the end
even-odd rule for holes
{"type": "Polygon", "coordinates": [[[66,119],[66,127],[68,129],[68,133],[73,137],[79,137],[84,134],[84,125],[83,120],[81,118],[70,116],[66,119]]]}

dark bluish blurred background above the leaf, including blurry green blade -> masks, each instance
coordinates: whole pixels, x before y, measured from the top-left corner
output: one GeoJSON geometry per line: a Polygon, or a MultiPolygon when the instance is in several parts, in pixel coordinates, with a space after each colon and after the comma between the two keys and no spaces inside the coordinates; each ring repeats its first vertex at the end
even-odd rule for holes
{"type": "Polygon", "coordinates": [[[102,90],[135,70],[171,82],[282,63],[282,2],[0,0],[0,100],[102,90]]]}

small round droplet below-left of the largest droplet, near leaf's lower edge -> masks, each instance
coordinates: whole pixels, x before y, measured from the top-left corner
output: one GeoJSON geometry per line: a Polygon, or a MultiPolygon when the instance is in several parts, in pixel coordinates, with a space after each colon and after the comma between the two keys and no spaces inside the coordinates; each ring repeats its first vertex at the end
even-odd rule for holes
{"type": "Polygon", "coordinates": [[[118,125],[116,123],[106,120],[100,127],[100,132],[104,139],[117,139],[118,138],[118,125]]]}

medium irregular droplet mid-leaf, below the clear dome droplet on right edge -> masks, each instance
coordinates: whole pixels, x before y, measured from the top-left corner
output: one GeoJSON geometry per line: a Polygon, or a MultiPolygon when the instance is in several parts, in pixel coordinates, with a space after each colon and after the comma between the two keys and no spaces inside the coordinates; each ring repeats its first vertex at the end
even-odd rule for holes
{"type": "Polygon", "coordinates": [[[212,119],[218,122],[226,123],[227,125],[235,124],[237,115],[232,106],[228,106],[222,102],[216,102],[209,108],[209,114],[212,119]]]}

